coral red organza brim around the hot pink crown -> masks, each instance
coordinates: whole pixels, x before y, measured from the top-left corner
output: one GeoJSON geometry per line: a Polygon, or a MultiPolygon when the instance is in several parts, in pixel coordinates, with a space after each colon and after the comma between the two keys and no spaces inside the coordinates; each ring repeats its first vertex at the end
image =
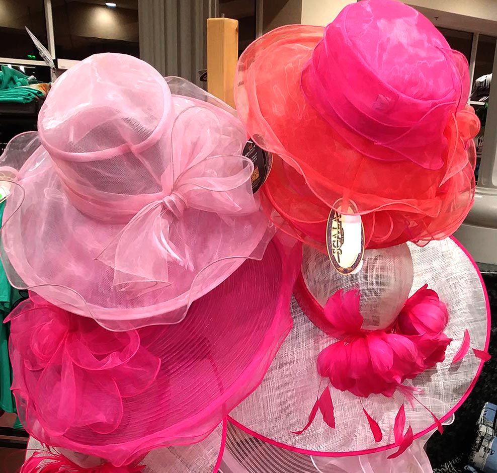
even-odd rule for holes
{"type": "Polygon", "coordinates": [[[301,187],[313,196],[293,205],[292,186],[278,182],[281,176],[270,175],[263,190],[280,215],[294,224],[292,234],[303,241],[302,231],[315,239],[313,233],[323,228],[314,223],[309,227],[305,215],[330,209],[347,213],[341,208],[344,199],[367,215],[369,248],[446,238],[466,216],[474,195],[476,153],[471,139],[467,150],[460,139],[466,139],[474,114],[463,110],[449,118],[440,170],[362,154],[306,102],[301,88],[302,71],[323,31],[303,25],[277,28],[254,41],[238,61],[235,103],[247,132],[302,175],[301,187]],[[374,212],[381,212],[376,221],[374,212]]]}

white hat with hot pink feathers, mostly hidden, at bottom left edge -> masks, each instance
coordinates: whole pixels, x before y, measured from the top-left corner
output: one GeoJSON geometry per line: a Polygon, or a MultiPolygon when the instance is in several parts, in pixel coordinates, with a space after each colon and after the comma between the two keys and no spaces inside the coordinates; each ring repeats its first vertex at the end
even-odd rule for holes
{"type": "MultiPolygon", "coordinates": [[[[217,473],[224,452],[226,422],[220,424],[204,440],[194,445],[158,448],[151,451],[131,468],[133,473],[217,473]]],[[[42,445],[30,437],[22,473],[70,471],[94,473],[96,468],[106,473],[119,470],[106,465],[103,458],[84,455],[63,448],[42,445]],[[45,468],[45,469],[43,469],[45,468]],[[50,469],[51,468],[51,469],[50,469]]]]}

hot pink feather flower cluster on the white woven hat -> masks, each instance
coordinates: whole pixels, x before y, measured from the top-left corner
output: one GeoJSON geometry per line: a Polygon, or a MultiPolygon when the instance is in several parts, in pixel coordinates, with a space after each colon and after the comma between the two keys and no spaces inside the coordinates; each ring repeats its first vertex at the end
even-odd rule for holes
{"type": "Polygon", "coordinates": [[[359,291],[339,290],[324,307],[327,333],[340,340],[321,351],[317,369],[337,389],[363,398],[373,393],[391,397],[405,379],[445,359],[449,315],[428,285],[407,299],[395,325],[385,330],[361,328],[359,302],[359,291]]]}

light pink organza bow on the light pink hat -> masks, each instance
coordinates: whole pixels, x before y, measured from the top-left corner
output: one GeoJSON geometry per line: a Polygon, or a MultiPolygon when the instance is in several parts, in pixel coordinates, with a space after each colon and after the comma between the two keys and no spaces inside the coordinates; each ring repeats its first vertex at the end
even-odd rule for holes
{"type": "Polygon", "coordinates": [[[194,253],[205,249],[189,248],[186,235],[208,232],[218,224],[214,214],[226,221],[257,210],[251,186],[254,165],[238,154],[241,146],[207,108],[194,106],[178,115],[172,157],[160,176],[163,192],[98,256],[114,268],[115,286],[136,296],[168,285],[172,264],[198,274],[203,268],[195,267],[194,253]]]}

